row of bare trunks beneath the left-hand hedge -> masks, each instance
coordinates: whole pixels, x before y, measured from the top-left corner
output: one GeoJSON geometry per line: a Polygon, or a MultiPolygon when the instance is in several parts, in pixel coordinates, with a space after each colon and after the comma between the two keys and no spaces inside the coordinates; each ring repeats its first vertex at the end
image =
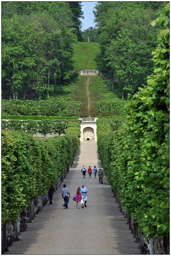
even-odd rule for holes
{"type": "MultiPolygon", "coordinates": [[[[55,192],[63,182],[63,179],[66,177],[69,172],[69,168],[65,169],[61,178],[59,178],[55,183],[55,192]]],[[[8,252],[8,247],[12,245],[12,242],[18,241],[20,232],[26,231],[27,223],[32,222],[36,214],[38,214],[45,204],[47,204],[49,200],[48,192],[45,195],[40,195],[37,199],[32,199],[30,205],[26,207],[20,213],[20,216],[16,218],[15,222],[11,222],[10,224],[2,225],[2,241],[1,241],[1,250],[3,252],[8,252]]]]}

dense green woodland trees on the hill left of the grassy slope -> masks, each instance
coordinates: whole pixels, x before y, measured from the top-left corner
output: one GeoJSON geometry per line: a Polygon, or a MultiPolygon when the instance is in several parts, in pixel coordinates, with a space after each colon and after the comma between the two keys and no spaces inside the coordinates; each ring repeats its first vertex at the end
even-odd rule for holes
{"type": "Polygon", "coordinates": [[[18,99],[34,89],[55,91],[56,76],[71,78],[73,44],[80,34],[80,2],[4,2],[2,4],[2,91],[18,99]],[[38,9],[36,9],[38,8],[38,9]],[[74,16],[73,16],[74,14],[74,16]]]}

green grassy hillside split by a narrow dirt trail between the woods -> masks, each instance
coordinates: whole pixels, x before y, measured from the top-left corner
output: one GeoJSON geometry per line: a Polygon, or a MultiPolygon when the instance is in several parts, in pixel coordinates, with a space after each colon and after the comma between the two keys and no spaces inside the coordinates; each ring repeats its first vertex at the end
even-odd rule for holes
{"type": "MultiPolygon", "coordinates": [[[[84,51],[89,56],[89,66],[87,69],[99,69],[98,66],[98,54],[100,52],[98,43],[78,43],[74,45],[74,56],[73,56],[73,70],[78,72],[80,69],[85,69],[88,64],[88,58],[84,51]]],[[[100,69],[99,69],[100,72],[100,69]]],[[[58,100],[64,101],[80,101],[82,103],[81,111],[78,114],[81,117],[88,117],[88,97],[86,90],[86,81],[88,76],[76,76],[72,75],[72,79],[65,81],[63,85],[62,79],[59,77],[56,79],[56,92],[52,90],[49,92],[49,96],[55,97],[58,100]]],[[[112,90],[108,83],[101,76],[89,76],[89,97],[90,97],[90,116],[99,116],[100,113],[95,111],[95,103],[101,100],[114,100],[116,98],[121,98],[122,93],[119,91],[119,88],[114,88],[112,90]]],[[[52,82],[53,83],[53,82],[52,82]]],[[[51,88],[54,88],[54,85],[51,84],[51,88]]],[[[47,92],[42,96],[42,100],[48,100],[47,92]]],[[[23,96],[19,93],[19,99],[23,100],[23,96]]],[[[35,90],[32,89],[28,93],[28,100],[38,100],[38,95],[35,93],[35,90]]],[[[5,114],[5,113],[3,113],[5,114]]],[[[103,113],[103,115],[108,116],[108,113],[103,113]]],[[[66,109],[61,113],[61,116],[71,116],[70,109],[66,109]]]]}

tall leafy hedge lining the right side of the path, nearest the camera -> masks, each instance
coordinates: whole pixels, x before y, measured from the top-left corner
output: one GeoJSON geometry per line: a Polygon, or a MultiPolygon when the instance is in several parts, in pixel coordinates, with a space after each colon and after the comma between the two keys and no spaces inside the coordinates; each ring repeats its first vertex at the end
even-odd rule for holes
{"type": "Polygon", "coordinates": [[[164,14],[152,22],[167,27],[160,31],[153,53],[155,75],[148,77],[148,86],[139,88],[128,103],[126,122],[111,132],[109,122],[97,120],[98,152],[108,183],[147,239],[169,233],[168,20],[166,4],[164,14]]]}

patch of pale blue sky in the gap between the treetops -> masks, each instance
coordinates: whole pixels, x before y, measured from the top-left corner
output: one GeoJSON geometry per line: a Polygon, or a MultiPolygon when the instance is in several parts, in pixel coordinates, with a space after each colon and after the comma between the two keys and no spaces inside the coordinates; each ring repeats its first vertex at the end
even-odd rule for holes
{"type": "Polygon", "coordinates": [[[84,12],[84,20],[80,19],[83,23],[82,30],[87,29],[89,27],[94,27],[95,23],[93,23],[94,15],[93,15],[93,8],[95,4],[98,2],[82,2],[82,11],[84,12]]]}

